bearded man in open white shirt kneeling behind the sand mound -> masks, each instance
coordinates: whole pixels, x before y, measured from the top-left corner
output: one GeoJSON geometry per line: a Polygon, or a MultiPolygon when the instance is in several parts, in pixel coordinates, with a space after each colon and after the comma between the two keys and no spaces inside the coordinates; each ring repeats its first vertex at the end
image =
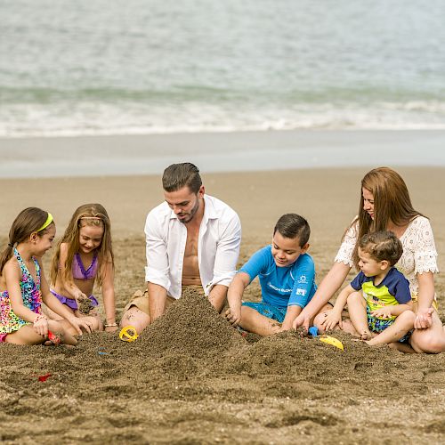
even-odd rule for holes
{"type": "Polygon", "coordinates": [[[120,323],[139,333],[181,297],[184,287],[203,289],[221,312],[239,256],[239,216],[205,194],[197,166],[168,166],[162,184],[166,201],[145,223],[147,290],[134,294],[120,323]]]}

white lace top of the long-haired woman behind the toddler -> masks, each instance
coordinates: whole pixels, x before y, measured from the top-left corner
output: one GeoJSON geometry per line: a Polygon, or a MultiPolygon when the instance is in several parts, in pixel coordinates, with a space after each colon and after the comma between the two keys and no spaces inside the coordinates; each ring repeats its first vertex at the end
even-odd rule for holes
{"type": "MultiPolygon", "coordinates": [[[[344,241],[336,254],[336,263],[344,263],[353,266],[352,254],[359,236],[358,221],[350,227],[344,236],[344,241]]],[[[395,265],[409,280],[411,295],[417,295],[417,274],[424,272],[436,273],[437,251],[434,244],[433,230],[430,221],[425,216],[417,216],[413,219],[407,230],[401,236],[403,254],[395,265]]]]}

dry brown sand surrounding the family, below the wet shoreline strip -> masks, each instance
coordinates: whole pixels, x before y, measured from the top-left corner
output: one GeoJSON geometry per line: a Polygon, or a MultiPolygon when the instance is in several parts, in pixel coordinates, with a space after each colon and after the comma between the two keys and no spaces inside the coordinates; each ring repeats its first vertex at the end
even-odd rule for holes
{"type": "MultiPolygon", "coordinates": [[[[357,211],[368,168],[205,174],[206,191],[243,224],[239,263],[271,239],[280,214],[312,226],[320,282],[357,211]]],[[[445,249],[445,169],[399,168],[445,249]]],[[[54,214],[101,202],[113,224],[117,312],[143,286],[143,224],[162,199],[159,176],[2,180],[0,242],[25,206],[54,214]]],[[[50,255],[45,257],[46,270],[50,255]]],[[[442,257],[439,266],[444,268],[442,257]]],[[[436,277],[445,320],[445,281],[436,277]]],[[[247,297],[259,298],[257,284],[247,297]]],[[[101,298],[100,298],[101,300],[101,298]]],[[[411,443],[445,441],[445,354],[344,352],[295,333],[244,338],[202,296],[184,295],[138,340],[104,333],[74,349],[0,345],[0,441],[6,443],[411,443]],[[40,382],[38,376],[51,374],[40,382]]]]}

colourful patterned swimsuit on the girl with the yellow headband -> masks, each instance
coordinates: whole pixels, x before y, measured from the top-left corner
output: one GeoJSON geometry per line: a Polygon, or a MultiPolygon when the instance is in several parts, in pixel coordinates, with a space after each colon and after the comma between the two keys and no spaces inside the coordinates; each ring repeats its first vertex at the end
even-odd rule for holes
{"type": "MultiPolygon", "coordinates": [[[[34,280],[16,248],[14,248],[14,255],[20,265],[20,290],[23,304],[32,312],[41,313],[42,293],[40,292],[40,266],[33,256],[32,259],[36,267],[36,280],[34,280]]],[[[28,323],[28,321],[21,320],[12,311],[8,291],[0,292],[0,342],[4,341],[5,336],[19,330],[28,323]]]]}

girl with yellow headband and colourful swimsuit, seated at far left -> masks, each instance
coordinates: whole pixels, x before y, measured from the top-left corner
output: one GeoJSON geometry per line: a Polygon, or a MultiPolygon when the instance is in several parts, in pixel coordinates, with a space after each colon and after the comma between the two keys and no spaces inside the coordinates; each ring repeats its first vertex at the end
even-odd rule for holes
{"type": "Polygon", "coordinates": [[[41,257],[55,237],[53,215],[28,207],[12,223],[9,243],[0,255],[0,342],[12,344],[77,344],[69,331],[91,332],[55,298],[44,278],[41,257]],[[61,320],[48,320],[45,303],[61,320]]]}

